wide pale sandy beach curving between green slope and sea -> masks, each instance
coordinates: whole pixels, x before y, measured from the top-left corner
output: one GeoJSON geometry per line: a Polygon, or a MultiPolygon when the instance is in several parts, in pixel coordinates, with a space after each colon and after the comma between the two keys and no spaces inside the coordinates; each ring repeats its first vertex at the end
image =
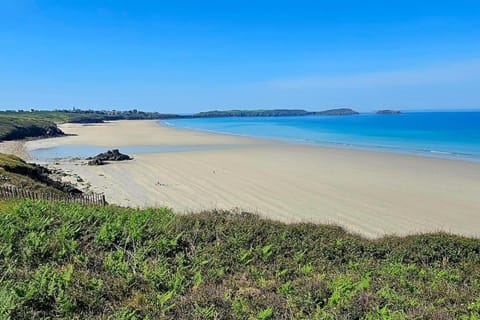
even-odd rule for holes
{"type": "MultiPolygon", "coordinates": [[[[292,145],[179,130],[155,121],[64,124],[55,145],[219,145],[222,150],[133,154],[105,166],[61,161],[91,190],[123,206],[246,210],[284,222],[339,224],[375,238],[447,231],[479,236],[480,164],[292,145]]],[[[18,146],[17,146],[18,147],[18,146]]]]}

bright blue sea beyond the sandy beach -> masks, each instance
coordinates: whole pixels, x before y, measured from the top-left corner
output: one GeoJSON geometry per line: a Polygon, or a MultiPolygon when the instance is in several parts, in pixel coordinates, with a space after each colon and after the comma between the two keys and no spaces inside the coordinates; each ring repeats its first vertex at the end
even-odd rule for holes
{"type": "Polygon", "coordinates": [[[480,161],[480,111],[178,119],[162,124],[292,143],[480,161]]]}

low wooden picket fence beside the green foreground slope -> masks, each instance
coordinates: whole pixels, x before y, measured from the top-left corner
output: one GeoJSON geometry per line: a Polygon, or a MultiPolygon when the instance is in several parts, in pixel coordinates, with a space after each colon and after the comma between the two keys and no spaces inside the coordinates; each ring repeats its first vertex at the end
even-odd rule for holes
{"type": "Polygon", "coordinates": [[[24,190],[13,186],[0,186],[0,198],[7,199],[31,199],[31,200],[54,200],[65,202],[78,202],[85,205],[104,206],[107,204],[103,194],[79,194],[62,195],[24,190]]]}

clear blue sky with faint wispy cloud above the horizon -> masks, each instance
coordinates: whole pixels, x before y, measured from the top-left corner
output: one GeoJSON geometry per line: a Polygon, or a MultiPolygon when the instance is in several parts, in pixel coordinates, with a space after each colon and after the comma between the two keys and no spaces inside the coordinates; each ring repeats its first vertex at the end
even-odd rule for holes
{"type": "Polygon", "coordinates": [[[0,0],[0,108],[480,107],[480,1],[0,0]]]}

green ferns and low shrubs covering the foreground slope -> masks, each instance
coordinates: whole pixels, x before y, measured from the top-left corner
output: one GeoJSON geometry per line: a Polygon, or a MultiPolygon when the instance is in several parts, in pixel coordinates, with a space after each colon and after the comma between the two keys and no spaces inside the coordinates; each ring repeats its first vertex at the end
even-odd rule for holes
{"type": "Polygon", "coordinates": [[[480,240],[0,202],[1,319],[478,319],[480,240]]]}

